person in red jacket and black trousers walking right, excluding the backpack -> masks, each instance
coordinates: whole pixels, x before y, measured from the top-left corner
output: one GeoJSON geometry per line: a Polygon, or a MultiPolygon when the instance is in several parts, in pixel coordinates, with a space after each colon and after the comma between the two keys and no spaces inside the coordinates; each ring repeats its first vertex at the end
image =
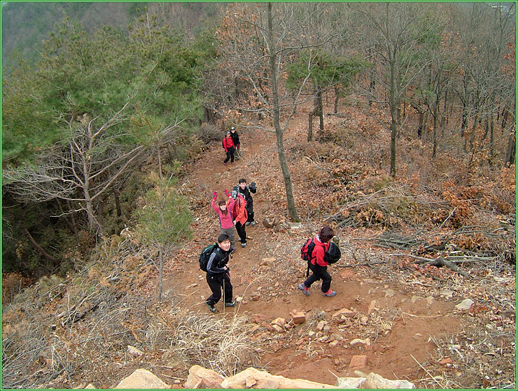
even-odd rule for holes
{"type": "Polygon", "coordinates": [[[328,272],[329,263],[324,260],[324,253],[329,250],[329,242],[334,237],[334,231],[328,226],[323,227],[318,235],[314,237],[314,248],[311,253],[310,270],[313,272],[304,283],[299,284],[298,288],[306,296],[309,296],[309,288],[312,283],[322,280],[323,296],[333,297],[336,292],[331,290],[331,275],[328,272]]]}

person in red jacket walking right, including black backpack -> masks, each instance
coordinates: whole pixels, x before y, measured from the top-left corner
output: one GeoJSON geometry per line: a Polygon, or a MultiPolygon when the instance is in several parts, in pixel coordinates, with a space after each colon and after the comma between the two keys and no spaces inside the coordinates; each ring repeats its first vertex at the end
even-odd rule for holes
{"type": "Polygon", "coordinates": [[[322,294],[323,296],[333,297],[336,292],[331,290],[332,277],[328,272],[328,265],[340,259],[340,249],[336,244],[332,243],[331,239],[334,237],[334,231],[328,226],[324,226],[318,235],[313,239],[308,239],[301,248],[301,257],[308,261],[308,273],[311,270],[313,273],[299,284],[298,288],[306,296],[309,296],[309,289],[312,283],[322,280],[322,294]]]}

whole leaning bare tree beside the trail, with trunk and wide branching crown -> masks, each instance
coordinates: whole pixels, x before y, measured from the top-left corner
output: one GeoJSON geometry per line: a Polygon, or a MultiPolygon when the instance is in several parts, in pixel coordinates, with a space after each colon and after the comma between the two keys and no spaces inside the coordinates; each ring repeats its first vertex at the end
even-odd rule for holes
{"type": "Polygon", "coordinates": [[[328,16],[325,29],[318,27],[325,3],[239,3],[230,8],[219,30],[220,62],[206,74],[205,91],[210,110],[222,117],[247,117],[247,125],[275,132],[288,213],[299,220],[291,174],[284,151],[284,132],[314,67],[315,56],[307,56],[306,75],[295,91],[284,88],[286,66],[302,49],[321,47],[339,36],[336,21],[328,16]],[[264,126],[266,119],[271,127],[264,126]],[[273,130],[272,130],[273,128],[273,130]]]}

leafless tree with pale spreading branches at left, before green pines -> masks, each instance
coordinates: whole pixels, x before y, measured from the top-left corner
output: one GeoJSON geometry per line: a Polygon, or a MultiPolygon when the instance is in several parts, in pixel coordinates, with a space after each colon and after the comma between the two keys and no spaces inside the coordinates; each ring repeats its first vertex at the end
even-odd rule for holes
{"type": "Polygon", "coordinates": [[[86,211],[90,230],[103,235],[95,202],[145,151],[143,145],[128,147],[125,142],[129,134],[121,124],[127,120],[127,106],[100,125],[99,117],[71,120],[69,137],[42,152],[38,165],[3,170],[8,191],[21,202],[56,198],[77,202],[79,210],[86,211]]]}

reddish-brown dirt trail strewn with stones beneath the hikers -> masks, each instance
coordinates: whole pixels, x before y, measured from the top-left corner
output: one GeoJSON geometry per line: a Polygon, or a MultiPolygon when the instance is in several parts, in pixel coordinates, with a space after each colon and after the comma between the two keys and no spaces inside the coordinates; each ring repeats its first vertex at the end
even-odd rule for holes
{"type": "MultiPolygon", "coordinates": [[[[286,139],[291,138],[293,142],[297,137],[300,136],[293,130],[286,134],[286,139]]],[[[251,238],[248,246],[240,248],[238,245],[231,263],[234,296],[243,297],[243,303],[235,309],[225,309],[219,303],[218,312],[213,316],[236,311],[251,318],[260,316],[269,323],[277,317],[289,320],[289,313],[294,309],[306,311],[308,321],[305,324],[280,335],[279,339],[272,338],[264,346],[261,364],[273,374],[334,384],[335,375],[356,376],[349,368],[351,357],[367,355],[367,366],[360,369],[364,373],[376,372],[388,379],[410,381],[426,377],[419,364],[436,363],[434,338],[456,333],[462,323],[454,311],[456,301],[444,300],[439,292],[430,290],[425,284],[406,283],[404,274],[391,276],[381,268],[338,265],[330,267],[332,289],[338,292],[334,298],[321,296],[319,283],[312,286],[310,296],[304,296],[297,289],[306,272],[298,253],[306,234],[304,226],[302,231],[280,234],[261,224],[275,209],[272,200],[265,199],[262,194],[262,189],[269,185],[262,182],[262,176],[266,171],[275,171],[277,178],[282,180],[275,154],[275,137],[256,130],[243,132],[240,139],[244,156],[234,165],[224,166],[221,145],[214,145],[206,152],[206,157],[190,169],[184,187],[201,193],[199,206],[194,211],[195,233],[184,250],[165,266],[166,292],[171,289],[175,296],[181,297],[182,306],[208,313],[204,300],[210,290],[204,273],[198,268],[197,256],[201,248],[214,242],[219,235],[217,216],[210,209],[212,191],[223,193],[223,189],[232,189],[242,177],[249,182],[256,181],[258,192],[254,195],[254,211],[258,224],[247,226],[247,236],[251,238]],[[269,257],[275,261],[263,261],[269,257]],[[336,324],[333,321],[332,314],[343,308],[356,313],[354,322],[336,324]],[[325,317],[321,311],[325,312],[325,317]],[[343,335],[344,340],[332,346],[304,340],[304,335],[301,339],[300,330],[306,329],[310,320],[319,318],[329,322],[331,333],[343,335]],[[369,338],[370,346],[351,346],[350,342],[355,338],[369,338]]],[[[353,246],[354,241],[346,240],[346,245],[353,246]]],[[[373,251],[377,250],[371,248],[365,259],[373,251]]],[[[343,250],[339,263],[351,261],[347,259],[348,255],[343,250]]],[[[315,326],[316,322],[312,330],[315,326]]],[[[428,378],[428,383],[420,383],[419,387],[433,388],[432,384],[433,380],[428,378]]]]}

